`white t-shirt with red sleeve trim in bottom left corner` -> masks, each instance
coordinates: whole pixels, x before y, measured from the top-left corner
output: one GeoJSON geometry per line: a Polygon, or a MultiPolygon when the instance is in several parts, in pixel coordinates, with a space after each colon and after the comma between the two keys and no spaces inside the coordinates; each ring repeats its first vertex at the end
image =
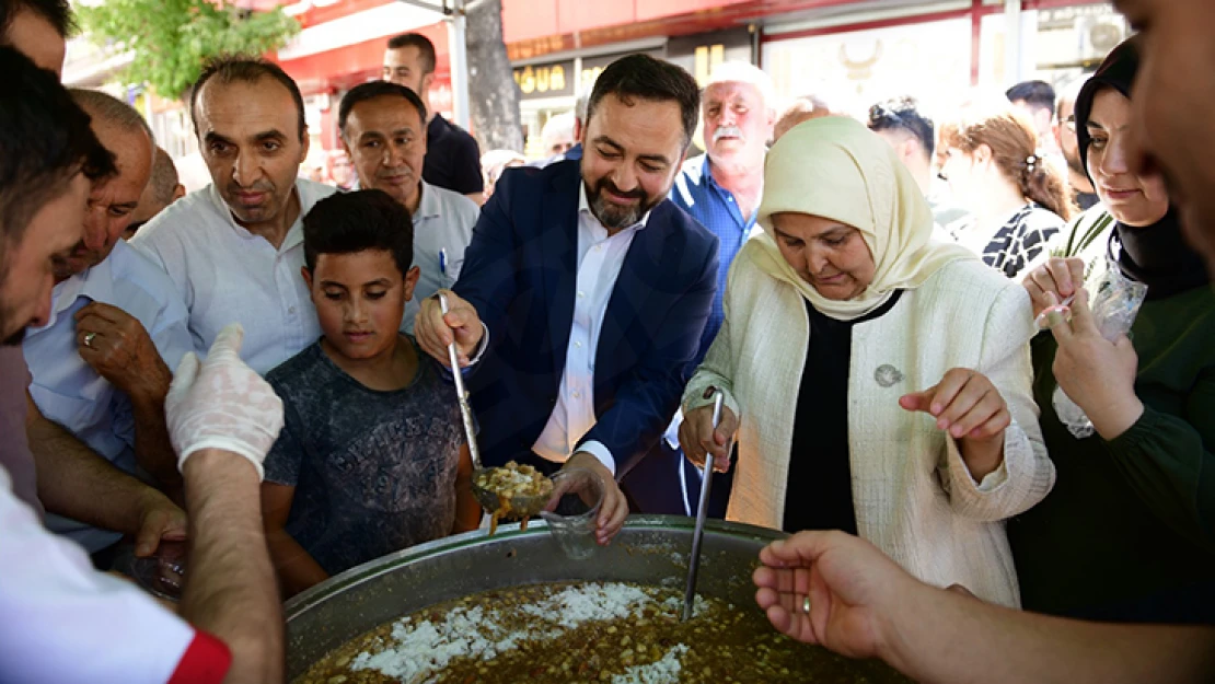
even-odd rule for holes
{"type": "Polygon", "coordinates": [[[0,682],[220,682],[231,654],[43,528],[0,468],[0,682]]]}

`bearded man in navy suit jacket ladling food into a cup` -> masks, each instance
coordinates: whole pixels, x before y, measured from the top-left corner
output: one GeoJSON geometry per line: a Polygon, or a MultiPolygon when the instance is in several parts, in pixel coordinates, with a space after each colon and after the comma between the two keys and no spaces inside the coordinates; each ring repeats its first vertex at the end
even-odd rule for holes
{"type": "Polygon", "coordinates": [[[628,515],[616,480],[678,407],[717,287],[717,238],[666,199],[699,107],[674,64],[632,55],[604,69],[583,158],[503,174],[450,312],[428,299],[414,327],[443,364],[454,339],[486,465],[608,482],[601,544],[628,515]]]}

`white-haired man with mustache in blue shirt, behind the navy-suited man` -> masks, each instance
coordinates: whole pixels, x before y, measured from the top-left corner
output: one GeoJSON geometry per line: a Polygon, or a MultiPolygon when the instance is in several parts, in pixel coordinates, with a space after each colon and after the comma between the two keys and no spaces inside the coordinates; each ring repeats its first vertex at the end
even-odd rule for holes
{"type": "MultiPolygon", "coordinates": [[[[725,320],[722,305],[725,276],[734,256],[756,230],[756,209],[763,194],[763,162],[776,121],[772,79],[745,62],[719,64],[701,94],[705,153],[688,159],[676,177],[671,202],[717,236],[717,294],[701,333],[696,363],[713,344],[725,320]]],[[[679,450],[676,414],[650,456],[622,481],[625,491],[644,513],[695,515],[700,501],[700,471],[679,450]]],[[[729,499],[724,474],[713,491],[710,514],[725,515],[729,499]]]]}

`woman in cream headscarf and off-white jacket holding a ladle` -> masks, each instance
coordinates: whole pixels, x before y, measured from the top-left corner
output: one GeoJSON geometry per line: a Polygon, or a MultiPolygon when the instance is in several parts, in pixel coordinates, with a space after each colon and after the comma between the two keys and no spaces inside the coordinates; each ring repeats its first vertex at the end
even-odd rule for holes
{"type": "Polygon", "coordinates": [[[759,224],[684,394],[684,453],[728,467],[738,437],[731,520],[859,533],[926,582],[1018,605],[1002,520],[1055,480],[1023,288],[929,242],[915,180],[850,119],[773,146],[759,224]]]}

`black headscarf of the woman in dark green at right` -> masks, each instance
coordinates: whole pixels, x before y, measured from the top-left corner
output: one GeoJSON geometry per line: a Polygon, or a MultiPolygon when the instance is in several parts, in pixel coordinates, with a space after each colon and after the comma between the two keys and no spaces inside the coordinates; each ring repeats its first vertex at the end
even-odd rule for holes
{"type": "MultiPolygon", "coordinates": [[[[1080,146],[1080,160],[1090,179],[1089,145],[1092,139],[1089,136],[1087,124],[1092,101],[1106,87],[1112,87],[1130,100],[1138,66],[1140,39],[1135,36],[1114,47],[1075,98],[1075,136],[1080,146]]],[[[1181,237],[1181,224],[1171,205],[1169,213],[1151,226],[1134,227],[1118,222],[1111,237],[1113,239],[1121,244],[1118,265],[1123,273],[1146,284],[1148,299],[1170,296],[1209,282],[1203,259],[1181,237]]]]}

